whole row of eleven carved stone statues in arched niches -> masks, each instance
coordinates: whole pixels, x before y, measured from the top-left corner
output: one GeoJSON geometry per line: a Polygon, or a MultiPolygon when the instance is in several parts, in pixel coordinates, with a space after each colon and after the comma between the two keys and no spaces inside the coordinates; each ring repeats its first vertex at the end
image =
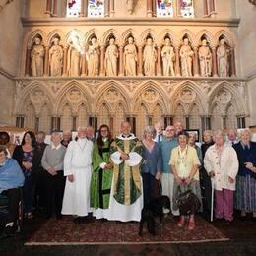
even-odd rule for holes
{"type": "MultiPolygon", "coordinates": [[[[67,74],[68,76],[98,76],[99,67],[103,65],[104,73],[106,76],[117,76],[118,74],[118,58],[121,54],[120,48],[118,48],[115,37],[110,37],[108,45],[104,53],[104,62],[100,63],[100,46],[96,36],[92,37],[87,45],[83,45],[78,35],[73,35],[69,40],[67,50],[67,74]],[[84,62],[84,64],[83,64],[84,62]],[[86,63],[86,64],[85,64],[86,63]],[[87,67],[87,70],[86,70],[87,67]]],[[[201,41],[201,46],[198,50],[199,70],[202,77],[210,77],[212,72],[212,51],[206,38],[201,41]]],[[[177,49],[176,49],[177,50],[177,49]]],[[[220,45],[217,48],[217,67],[218,75],[220,77],[229,76],[229,64],[228,56],[229,50],[225,43],[224,38],[220,39],[220,45]]],[[[148,36],[145,41],[145,46],[142,51],[142,60],[139,60],[140,53],[135,44],[133,36],[129,36],[127,43],[123,50],[123,65],[124,74],[126,76],[155,76],[157,75],[157,61],[158,52],[153,38],[148,36]],[[137,64],[142,62],[142,71],[137,70],[137,64]]],[[[183,77],[192,77],[192,63],[195,57],[194,50],[191,47],[189,38],[185,37],[183,43],[180,46],[179,54],[174,52],[170,38],[167,36],[164,38],[164,45],[160,51],[160,57],[162,62],[162,75],[163,76],[176,76],[174,63],[180,61],[181,75],[183,77]]],[[[43,76],[45,49],[42,45],[41,38],[34,38],[34,44],[31,51],[31,69],[32,76],[43,76]]],[[[60,45],[60,38],[54,37],[52,39],[52,45],[49,49],[49,70],[50,76],[56,77],[62,75],[62,69],[64,63],[64,50],[60,45]]],[[[120,61],[120,60],[119,60],[120,61]]],[[[158,71],[160,72],[160,71],[158,71]]],[[[194,74],[199,75],[199,74],[194,74]]]]}

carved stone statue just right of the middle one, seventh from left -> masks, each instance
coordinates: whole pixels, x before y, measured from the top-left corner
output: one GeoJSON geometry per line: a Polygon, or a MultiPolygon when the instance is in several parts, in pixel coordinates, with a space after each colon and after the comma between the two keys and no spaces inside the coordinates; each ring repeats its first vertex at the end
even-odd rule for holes
{"type": "Polygon", "coordinates": [[[145,76],[155,76],[157,51],[153,45],[152,38],[148,38],[143,50],[143,63],[145,76]]]}

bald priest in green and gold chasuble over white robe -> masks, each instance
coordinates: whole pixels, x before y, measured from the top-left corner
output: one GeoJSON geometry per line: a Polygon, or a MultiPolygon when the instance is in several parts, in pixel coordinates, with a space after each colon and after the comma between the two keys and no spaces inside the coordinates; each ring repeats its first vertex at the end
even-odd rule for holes
{"type": "Polygon", "coordinates": [[[142,160],[142,144],[130,131],[130,124],[123,122],[122,133],[115,138],[110,148],[114,168],[108,220],[141,220],[143,188],[139,164],[142,160]]]}

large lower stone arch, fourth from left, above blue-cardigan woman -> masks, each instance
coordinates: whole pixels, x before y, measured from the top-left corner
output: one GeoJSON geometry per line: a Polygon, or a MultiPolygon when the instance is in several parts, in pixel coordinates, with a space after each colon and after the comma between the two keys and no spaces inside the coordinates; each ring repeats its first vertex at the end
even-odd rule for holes
{"type": "MultiPolygon", "coordinates": [[[[136,105],[136,102],[138,101],[138,97],[141,96],[141,94],[143,92],[145,92],[146,90],[149,90],[149,89],[154,90],[155,92],[157,92],[160,95],[160,99],[161,99],[160,104],[163,109],[163,114],[167,114],[168,113],[168,101],[166,99],[167,94],[166,94],[166,92],[164,92],[164,90],[162,89],[162,87],[159,84],[157,84],[153,81],[145,82],[145,84],[141,85],[141,87],[134,92],[134,94],[133,94],[134,96],[133,96],[132,103],[131,103],[134,106],[134,108],[132,110],[135,111],[135,105],[136,105]]],[[[154,101],[152,103],[155,104],[157,101],[154,101]]]]}

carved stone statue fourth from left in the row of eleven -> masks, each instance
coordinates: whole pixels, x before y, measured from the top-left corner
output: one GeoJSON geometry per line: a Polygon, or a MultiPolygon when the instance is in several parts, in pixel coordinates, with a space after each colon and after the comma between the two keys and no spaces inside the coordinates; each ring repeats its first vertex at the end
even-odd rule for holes
{"type": "Polygon", "coordinates": [[[99,71],[99,45],[93,37],[87,51],[88,76],[97,76],[99,71]]]}

